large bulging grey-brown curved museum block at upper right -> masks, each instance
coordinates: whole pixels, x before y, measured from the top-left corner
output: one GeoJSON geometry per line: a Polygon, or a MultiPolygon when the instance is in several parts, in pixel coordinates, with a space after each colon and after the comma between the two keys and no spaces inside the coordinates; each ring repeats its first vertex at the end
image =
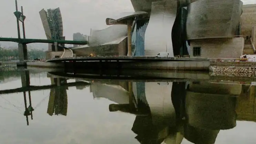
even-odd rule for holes
{"type": "Polygon", "coordinates": [[[233,38],[243,2],[240,0],[199,0],[188,7],[188,39],[233,38]]]}

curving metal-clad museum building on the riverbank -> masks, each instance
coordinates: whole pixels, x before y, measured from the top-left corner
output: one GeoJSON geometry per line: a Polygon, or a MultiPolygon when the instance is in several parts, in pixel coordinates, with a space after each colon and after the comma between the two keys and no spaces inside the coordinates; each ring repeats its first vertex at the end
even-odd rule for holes
{"type": "MultiPolygon", "coordinates": [[[[110,26],[103,30],[91,30],[88,45],[73,49],[76,56],[91,53],[155,56],[159,52],[169,52],[170,56],[239,58],[243,53],[255,52],[256,4],[243,5],[241,0],[131,2],[134,12],[106,18],[106,24],[110,26]]],[[[40,15],[45,30],[48,29],[45,31],[47,37],[51,33],[60,33],[58,37],[64,38],[62,20],[61,23],[55,22],[60,28],[54,26],[54,30],[51,27],[55,23],[47,25],[45,22],[44,10],[40,11],[40,15]]],[[[56,16],[61,17],[60,12],[56,16]]],[[[48,20],[48,23],[53,23],[53,20],[48,20]]]]}

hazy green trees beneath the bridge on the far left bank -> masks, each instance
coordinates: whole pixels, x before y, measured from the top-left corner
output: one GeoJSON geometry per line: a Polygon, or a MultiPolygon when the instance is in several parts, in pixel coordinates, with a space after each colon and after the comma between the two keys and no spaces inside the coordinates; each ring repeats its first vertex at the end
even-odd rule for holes
{"type": "MultiPolygon", "coordinates": [[[[5,60],[18,60],[19,59],[19,51],[18,48],[15,49],[5,49],[0,47],[0,61],[5,60]]],[[[45,51],[38,49],[30,49],[28,51],[28,59],[45,59],[45,51]]]]}

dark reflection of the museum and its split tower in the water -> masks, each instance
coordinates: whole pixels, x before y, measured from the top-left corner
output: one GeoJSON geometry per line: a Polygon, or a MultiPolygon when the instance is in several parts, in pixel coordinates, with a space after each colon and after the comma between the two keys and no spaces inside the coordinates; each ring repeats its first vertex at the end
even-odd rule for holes
{"type": "MultiPolygon", "coordinates": [[[[63,78],[50,79],[52,84],[67,83],[63,78]]],[[[254,85],[98,80],[87,86],[94,98],[113,101],[110,112],[136,115],[132,131],[141,144],[180,144],[184,138],[196,144],[214,144],[219,131],[234,128],[237,120],[256,121],[254,85]]],[[[51,89],[49,115],[67,115],[67,89],[51,89]]]]}

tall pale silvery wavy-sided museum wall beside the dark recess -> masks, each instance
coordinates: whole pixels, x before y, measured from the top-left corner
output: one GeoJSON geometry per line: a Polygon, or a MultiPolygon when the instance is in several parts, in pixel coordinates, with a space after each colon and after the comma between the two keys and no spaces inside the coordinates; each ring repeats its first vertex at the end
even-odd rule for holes
{"type": "Polygon", "coordinates": [[[145,55],[169,52],[173,57],[172,29],[177,13],[177,1],[152,2],[149,24],[145,32],[145,55]]]}

